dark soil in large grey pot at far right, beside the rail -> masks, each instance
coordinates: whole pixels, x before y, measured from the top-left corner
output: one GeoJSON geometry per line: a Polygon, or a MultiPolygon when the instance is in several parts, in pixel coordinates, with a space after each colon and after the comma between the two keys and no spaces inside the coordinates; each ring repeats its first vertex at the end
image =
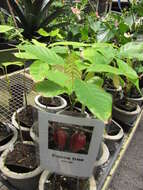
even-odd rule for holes
{"type": "Polygon", "coordinates": [[[135,111],[137,108],[137,105],[135,103],[130,102],[126,99],[118,100],[114,102],[114,104],[119,109],[129,111],[129,112],[135,111]]]}

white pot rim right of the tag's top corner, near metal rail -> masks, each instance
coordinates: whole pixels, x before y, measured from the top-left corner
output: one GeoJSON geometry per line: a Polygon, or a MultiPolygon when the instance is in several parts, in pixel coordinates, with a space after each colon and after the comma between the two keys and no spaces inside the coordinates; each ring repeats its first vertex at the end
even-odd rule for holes
{"type": "Polygon", "coordinates": [[[112,140],[112,141],[118,141],[120,140],[123,136],[124,136],[124,131],[122,129],[122,127],[112,119],[112,122],[117,126],[119,127],[120,131],[117,135],[108,135],[107,133],[104,133],[103,134],[103,138],[106,139],[106,140],[112,140]]]}

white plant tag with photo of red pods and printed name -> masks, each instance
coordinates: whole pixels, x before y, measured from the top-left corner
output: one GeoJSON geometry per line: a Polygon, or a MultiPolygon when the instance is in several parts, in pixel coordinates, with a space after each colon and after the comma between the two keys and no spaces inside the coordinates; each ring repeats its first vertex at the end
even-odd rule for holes
{"type": "Polygon", "coordinates": [[[40,166],[71,177],[91,176],[104,123],[97,119],[38,112],[40,166]]]}

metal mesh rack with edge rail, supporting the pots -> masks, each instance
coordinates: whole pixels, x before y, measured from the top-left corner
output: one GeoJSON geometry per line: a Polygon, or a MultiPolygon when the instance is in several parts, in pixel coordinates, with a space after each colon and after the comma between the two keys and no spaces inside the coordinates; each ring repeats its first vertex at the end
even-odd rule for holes
{"type": "MultiPolygon", "coordinates": [[[[34,105],[34,97],[36,93],[33,91],[33,81],[28,74],[24,72],[16,72],[8,76],[9,85],[6,77],[0,77],[0,121],[11,122],[13,112],[24,105],[24,91],[27,93],[28,103],[34,105]],[[24,85],[25,79],[25,85],[24,85]],[[10,91],[10,92],[9,92],[10,91]]],[[[142,112],[141,112],[142,114],[142,112]]],[[[92,187],[92,190],[107,190],[108,186],[118,168],[127,147],[129,146],[133,135],[138,127],[141,119],[141,114],[138,116],[136,122],[131,126],[124,138],[114,144],[115,149],[110,151],[110,158],[106,164],[100,168],[96,168],[94,178],[96,179],[97,188],[92,187]]],[[[91,178],[93,180],[93,178],[91,178]]],[[[0,190],[16,190],[13,188],[3,176],[0,175],[0,190]],[[2,185],[4,184],[7,188],[2,185]]]]}

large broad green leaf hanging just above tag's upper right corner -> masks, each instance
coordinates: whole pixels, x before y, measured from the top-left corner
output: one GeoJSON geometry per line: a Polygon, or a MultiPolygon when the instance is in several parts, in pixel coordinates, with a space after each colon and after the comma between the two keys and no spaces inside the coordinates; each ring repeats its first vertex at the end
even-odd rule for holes
{"type": "Polygon", "coordinates": [[[112,113],[112,97],[95,84],[75,80],[74,90],[78,101],[99,119],[107,121],[112,113]]]}

